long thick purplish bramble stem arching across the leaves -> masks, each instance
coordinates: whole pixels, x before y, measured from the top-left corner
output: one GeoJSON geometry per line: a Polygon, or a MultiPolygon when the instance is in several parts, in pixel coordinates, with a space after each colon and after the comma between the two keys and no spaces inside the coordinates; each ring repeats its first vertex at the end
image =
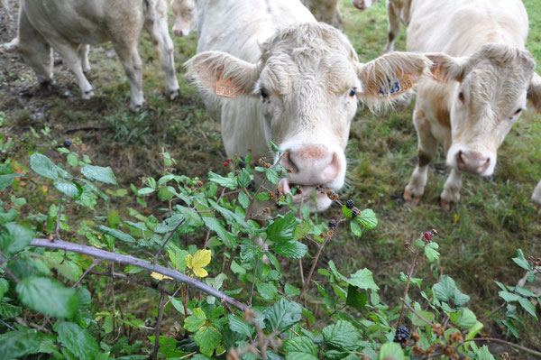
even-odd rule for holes
{"type": "Polygon", "coordinates": [[[115,263],[124,263],[128,265],[137,266],[139,268],[148,270],[150,272],[158,272],[162,275],[169,276],[170,278],[176,280],[177,282],[183,282],[190,287],[196,288],[200,291],[206,292],[209,295],[214,296],[215,298],[220,299],[222,302],[230,304],[237,309],[245,311],[249,307],[239,300],[233,299],[225,295],[222,291],[217,291],[215,288],[206,285],[203,282],[199,282],[196,279],[190,278],[188,275],[185,275],[181,272],[178,272],[173,269],[168,269],[161,265],[154,265],[151,262],[133,257],[131,255],[115,254],[105,250],[97,249],[96,247],[80,245],[75,243],[69,243],[62,240],[50,241],[49,239],[33,239],[30,243],[31,246],[37,247],[47,247],[50,249],[60,249],[64,251],[69,251],[78,254],[87,254],[89,256],[96,257],[98,259],[107,260],[115,263]]]}

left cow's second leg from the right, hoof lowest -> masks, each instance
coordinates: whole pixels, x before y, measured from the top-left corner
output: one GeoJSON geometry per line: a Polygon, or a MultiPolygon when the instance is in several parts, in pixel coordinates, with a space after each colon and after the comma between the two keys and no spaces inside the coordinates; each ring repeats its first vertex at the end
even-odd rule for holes
{"type": "Polygon", "coordinates": [[[137,51],[137,42],[115,42],[113,45],[130,83],[132,94],[130,109],[139,111],[144,104],[144,96],[142,94],[142,62],[137,51]]]}

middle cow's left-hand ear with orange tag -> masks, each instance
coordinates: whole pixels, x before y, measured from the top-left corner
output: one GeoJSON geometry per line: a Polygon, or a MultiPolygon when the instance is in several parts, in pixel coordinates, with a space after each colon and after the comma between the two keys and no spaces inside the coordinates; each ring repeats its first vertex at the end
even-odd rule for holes
{"type": "Polygon", "coordinates": [[[185,66],[188,78],[197,88],[219,97],[251,95],[257,80],[254,64],[222,51],[201,52],[185,66]]]}

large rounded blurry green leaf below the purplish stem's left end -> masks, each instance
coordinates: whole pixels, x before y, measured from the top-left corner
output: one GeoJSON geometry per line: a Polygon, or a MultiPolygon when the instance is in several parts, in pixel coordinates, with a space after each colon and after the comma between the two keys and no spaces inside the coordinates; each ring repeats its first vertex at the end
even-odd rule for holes
{"type": "Polygon", "coordinates": [[[24,305],[45,315],[72,318],[78,309],[77,292],[54,279],[28,277],[15,290],[24,305]]]}

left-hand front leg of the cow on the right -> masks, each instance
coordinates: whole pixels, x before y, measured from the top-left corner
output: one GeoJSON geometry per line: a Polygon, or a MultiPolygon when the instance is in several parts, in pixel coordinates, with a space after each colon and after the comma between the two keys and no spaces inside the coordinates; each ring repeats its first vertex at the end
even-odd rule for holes
{"type": "Polygon", "coordinates": [[[425,192],[428,178],[428,164],[436,156],[437,141],[430,131],[430,123],[423,110],[416,109],[413,124],[417,130],[417,166],[409,178],[404,190],[404,199],[408,204],[417,205],[425,192]]]}

